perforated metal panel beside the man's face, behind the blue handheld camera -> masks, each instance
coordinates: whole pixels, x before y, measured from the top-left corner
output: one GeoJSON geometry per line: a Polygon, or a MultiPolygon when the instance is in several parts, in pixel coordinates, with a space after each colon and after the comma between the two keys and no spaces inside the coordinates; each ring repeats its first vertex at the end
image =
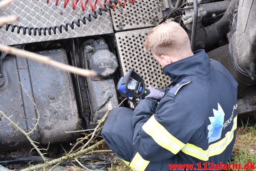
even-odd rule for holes
{"type": "MultiPolygon", "coordinates": [[[[152,54],[144,51],[144,41],[151,28],[116,33],[116,42],[123,75],[136,71],[146,86],[162,88],[158,62],[152,54]]],[[[162,73],[165,86],[171,81],[162,73]]]]}

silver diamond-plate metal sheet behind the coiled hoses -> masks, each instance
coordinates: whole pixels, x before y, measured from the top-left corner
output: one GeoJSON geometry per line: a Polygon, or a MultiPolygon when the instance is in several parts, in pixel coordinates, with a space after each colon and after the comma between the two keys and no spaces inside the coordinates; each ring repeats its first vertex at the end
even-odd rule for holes
{"type": "MultiPolygon", "coordinates": [[[[84,12],[81,8],[73,10],[71,1],[65,9],[63,8],[63,4],[63,1],[60,1],[59,5],[55,6],[55,1],[50,1],[50,3],[47,4],[46,0],[16,0],[8,7],[0,9],[0,16],[18,15],[19,21],[14,23],[17,25],[29,27],[51,27],[56,25],[60,26],[61,24],[68,22],[71,23],[73,20],[77,20],[85,16],[88,12],[91,12],[91,9],[89,10],[88,7],[84,12]]],[[[78,6],[80,6],[80,4],[78,4],[78,6]]],[[[86,25],[81,24],[80,27],[75,26],[74,30],[69,27],[68,32],[63,30],[62,33],[59,33],[59,30],[57,30],[57,34],[52,33],[52,35],[48,35],[47,32],[46,36],[29,36],[28,34],[23,35],[22,33],[17,34],[17,28],[14,33],[12,33],[10,29],[8,31],[5,29],[6,26],[3,26],[0,29],[0,43],[5,45],[113,33],[112,21],[109,12],[103,12],[102,16],[99,16],[97,19],[93,18],[92,22],[87,22],[86,25]]],[[[21,29],[20,32],[23,32],[23,29],[21,29]]]]}

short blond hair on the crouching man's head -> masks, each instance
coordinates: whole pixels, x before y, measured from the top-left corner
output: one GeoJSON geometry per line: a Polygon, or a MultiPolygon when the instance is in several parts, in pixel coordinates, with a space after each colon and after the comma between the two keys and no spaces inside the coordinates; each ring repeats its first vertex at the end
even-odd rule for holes
{"type": "Polygon", "coordinates": [[[153,28],[145,40],[145,49],[158,56],[191,51],[185,30],[174,21],[165,21],[153,28]]]}

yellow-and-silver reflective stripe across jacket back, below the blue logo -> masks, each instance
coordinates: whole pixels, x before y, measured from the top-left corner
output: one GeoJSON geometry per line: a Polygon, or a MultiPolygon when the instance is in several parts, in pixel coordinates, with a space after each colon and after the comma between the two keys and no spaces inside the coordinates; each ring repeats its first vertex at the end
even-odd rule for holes
{"type": "Polygon", "coordinates": [[[203,150],[200,147],[197,147],[193,144],[187,143],[184,148],[182,148],[182,152],[185,154],[191,155],[196,157],[197,159],[207,161],[209,157],[221,154],[227,146],[231,143],[234,137],[234,131],[237,128],[237,116],[233,120],[233,127],[232,129],[226,133],[225,137],[220,141],[209,145],[207,150],[203,150]]]}

